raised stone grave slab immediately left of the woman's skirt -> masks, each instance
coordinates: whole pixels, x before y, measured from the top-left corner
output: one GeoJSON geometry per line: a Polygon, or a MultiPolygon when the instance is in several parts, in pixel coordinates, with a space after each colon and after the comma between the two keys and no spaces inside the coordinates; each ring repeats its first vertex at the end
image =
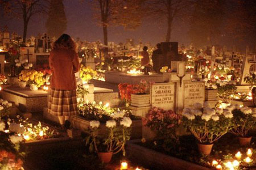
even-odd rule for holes
{"type": "Polygon", "coordinates": [[[22,112],[42,112],[47,107],[47,92],[31,91],[29,87],[8,87],[2,91],[5,100],[13,101],[22,112]]]}

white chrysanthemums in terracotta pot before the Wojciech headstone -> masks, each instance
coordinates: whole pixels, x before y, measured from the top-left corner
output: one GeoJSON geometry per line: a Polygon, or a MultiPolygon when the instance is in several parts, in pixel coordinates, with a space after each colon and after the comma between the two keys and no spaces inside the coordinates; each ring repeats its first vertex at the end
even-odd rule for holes
{"type": "Polygon", "coordinates": [[[229,110],[223,113],[223,109],[202,108],[196,103],[193,108],[183,110],[183,125],[197,139],[199,152],[209,155],[213,143],[232,128],[232,117],[229,110]]]}

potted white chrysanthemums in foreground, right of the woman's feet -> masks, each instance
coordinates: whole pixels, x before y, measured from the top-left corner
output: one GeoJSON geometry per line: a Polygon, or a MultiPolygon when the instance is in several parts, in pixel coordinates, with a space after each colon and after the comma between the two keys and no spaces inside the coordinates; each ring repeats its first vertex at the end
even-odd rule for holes
{"type": "Polygon", "coordinates": [[[99,135],[99,121],[90,121],[89,135],[86,145],[89,150],[97,152],[98,157],[104,163],[109,163],[113,154],[123,151],[125,155],[125,143],[130,139],[131,119],[129,117],[117,118],[106,121],[107,133],[99,135]]]}

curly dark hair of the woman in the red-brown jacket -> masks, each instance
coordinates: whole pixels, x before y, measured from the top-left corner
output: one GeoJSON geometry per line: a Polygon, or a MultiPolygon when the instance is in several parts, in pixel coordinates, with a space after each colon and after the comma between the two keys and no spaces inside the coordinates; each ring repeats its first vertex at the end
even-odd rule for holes
{"type": "Polygon", "coordinates": [[[72,49],[75,52],[77,51],[77,45],[76,42],[72,40],[71,36],[67,34],[63,34],[57,39],[55,42],[53,42],[53,49],[72,49]]]}

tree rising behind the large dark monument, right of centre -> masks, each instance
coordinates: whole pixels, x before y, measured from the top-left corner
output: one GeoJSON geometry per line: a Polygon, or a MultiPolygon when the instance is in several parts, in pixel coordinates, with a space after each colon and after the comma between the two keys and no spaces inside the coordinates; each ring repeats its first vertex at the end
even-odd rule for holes
{"type": "Polygon", "coordinates": [[[148,16],[165,19],[167,22],[166,41],[170,41],[175,19],[181,19],[187,14],[193,3],[192,0],[148,0],[148,16]]]}

